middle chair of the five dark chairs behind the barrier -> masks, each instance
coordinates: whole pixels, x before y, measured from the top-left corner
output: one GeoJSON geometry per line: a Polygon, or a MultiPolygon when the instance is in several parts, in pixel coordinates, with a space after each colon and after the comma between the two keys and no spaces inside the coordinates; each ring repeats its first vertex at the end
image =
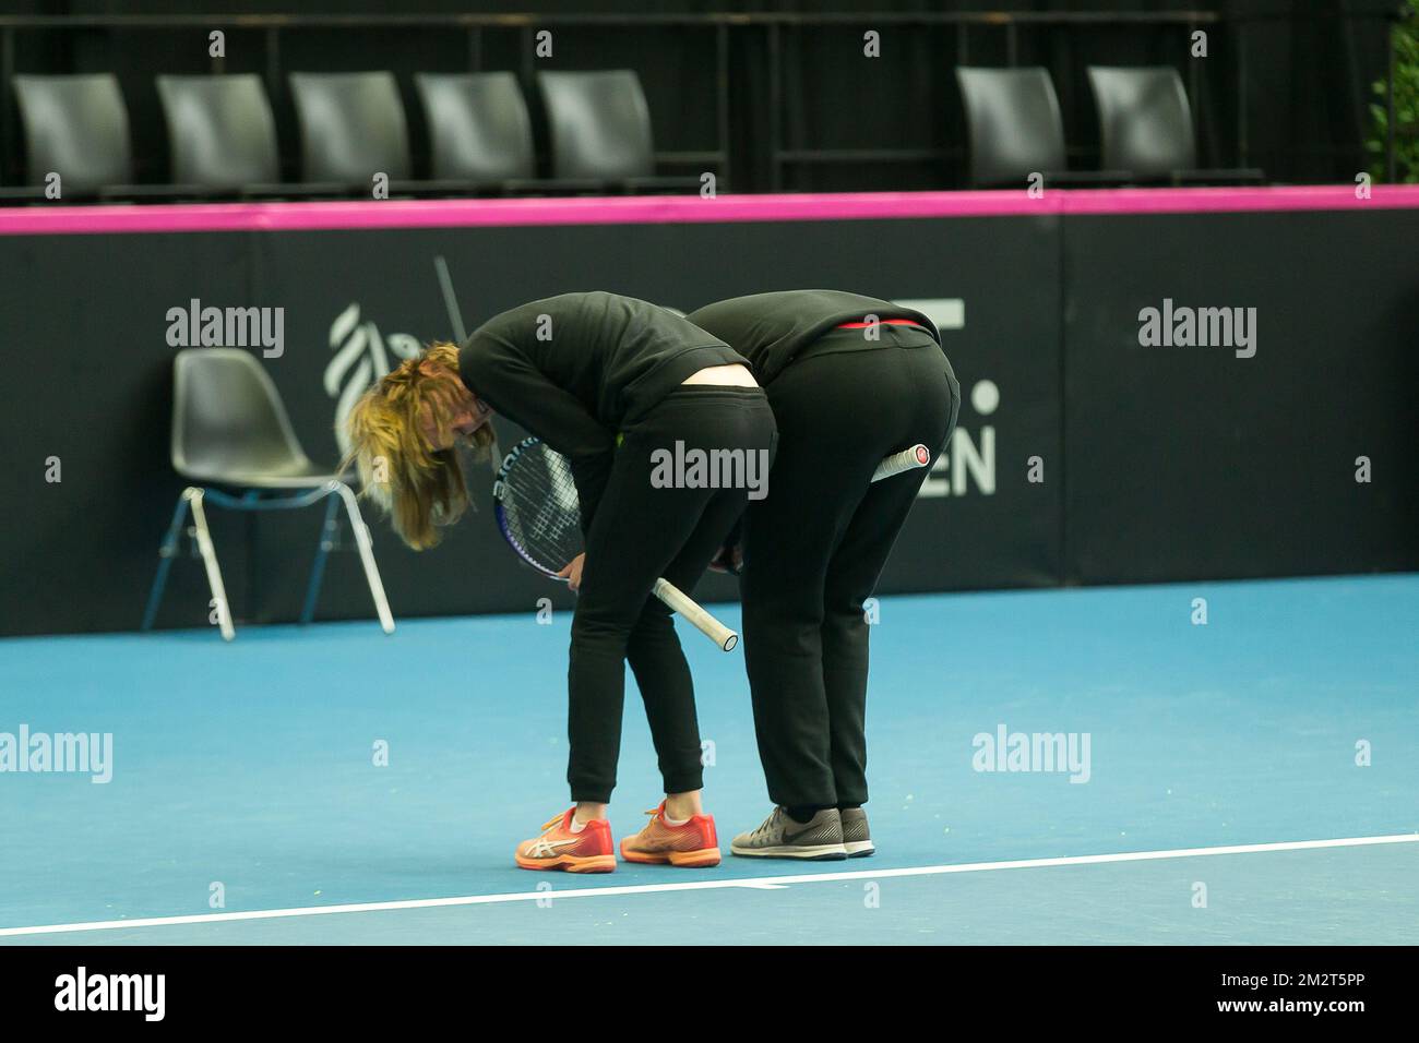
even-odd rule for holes
{"type": "Polygon", "coordinates": [[[368,189],[410,177],[409,129],[393,72],[292,72],[305,182],[368,189]]]}

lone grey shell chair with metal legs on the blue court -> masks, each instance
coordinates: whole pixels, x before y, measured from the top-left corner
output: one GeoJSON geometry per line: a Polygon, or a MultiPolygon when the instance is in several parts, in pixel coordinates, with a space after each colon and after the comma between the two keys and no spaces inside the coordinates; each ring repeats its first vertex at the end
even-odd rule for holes
{"type": "Polygon", "coordinates": [[[192,348],[177,352],[173,359],[170,448],[173,470],[197,484],[189,485],[177,498],[177,508],[159,551],[158,576],[148,596],[143,630],[152,629],[158,617],[189,509],[193,526],[187,534],[196,541],[206,566],[221,636],[230,641],[236,629],[207,528],[204,501],[238,511],[271,511],[309,507],[326,500],[325,525],[307,585],[301,623],[309,623],[315,614],[315,602],[325,576],[325,558],[336,546],[339,535],[336,507],[343,502],[380,626],[385,633],[393,633],[394,620],[355,494],[343,475],[314,464],[305,456],[281,396],[255,356],[238,348],[192,348]],[[213,488],[214,485],[224,488],[213,488]],[[272,492],[294,495],[274,497],[272,492]]]}

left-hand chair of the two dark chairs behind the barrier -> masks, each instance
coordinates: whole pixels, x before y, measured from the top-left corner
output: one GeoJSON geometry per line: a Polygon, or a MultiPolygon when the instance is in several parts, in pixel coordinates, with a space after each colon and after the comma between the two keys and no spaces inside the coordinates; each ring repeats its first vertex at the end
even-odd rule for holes
{"type": "Polygon", "coordinates": [[[1025,186],[1117,182],[1118,172],[1067,169],[1064,121],[1043,68],[956,68],[971,133],[971,184],[1025,186]]]}

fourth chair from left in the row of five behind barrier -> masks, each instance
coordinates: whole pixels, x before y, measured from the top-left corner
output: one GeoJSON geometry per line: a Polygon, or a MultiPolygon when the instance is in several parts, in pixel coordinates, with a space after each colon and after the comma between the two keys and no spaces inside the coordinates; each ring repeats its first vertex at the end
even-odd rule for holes
{"type": "Polygon", "coordinates": [[[474,184],[507,184],[536,175],[532,121],[511,72],[420,72],[433,176],[474,184]]]}

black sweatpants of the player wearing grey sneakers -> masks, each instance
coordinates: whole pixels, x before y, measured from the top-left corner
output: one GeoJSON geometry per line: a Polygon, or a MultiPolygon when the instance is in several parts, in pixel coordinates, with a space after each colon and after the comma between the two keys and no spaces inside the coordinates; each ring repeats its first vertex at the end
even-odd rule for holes
{"type": "Polygon", "coordinates": [[[915,443],[935,460],[961,404],[928,333],[880,332],[877,346],[840,352],[863,331],[832,331],[766,389],[779,447],[768,498],[745,514],[741,590],[759,759],[778,805],[867,800],[863,602],[927,471],[871,475],[915,443]]]}

